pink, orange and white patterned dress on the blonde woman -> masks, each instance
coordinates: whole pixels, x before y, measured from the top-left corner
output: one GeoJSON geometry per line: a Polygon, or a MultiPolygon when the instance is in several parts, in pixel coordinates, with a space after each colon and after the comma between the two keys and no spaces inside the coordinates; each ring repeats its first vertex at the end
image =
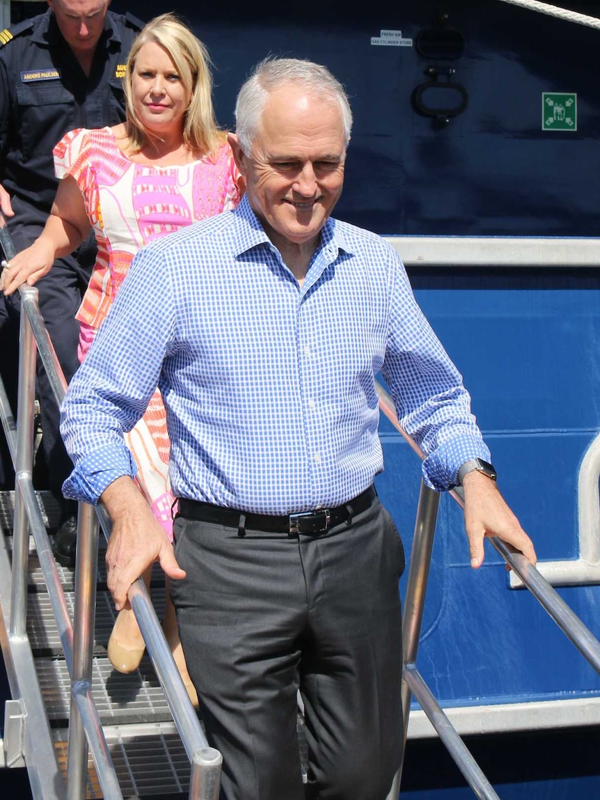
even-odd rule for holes
{"type": "MultiPolygon", "coordinates": [[[[70,131],[54,147],[58,178],[78,183],[98,244],[98,256],[77,318],[84,358],[112,305],[134,255],[158,236],[237,206],[238,172],[230,147],[181,166],[148,166],[118,149],[110,128],[70,131]]],[[[126,434],[138,466],[136,481],[155,517],[173,537],[166,414],[158,390],[126,434]]]]}

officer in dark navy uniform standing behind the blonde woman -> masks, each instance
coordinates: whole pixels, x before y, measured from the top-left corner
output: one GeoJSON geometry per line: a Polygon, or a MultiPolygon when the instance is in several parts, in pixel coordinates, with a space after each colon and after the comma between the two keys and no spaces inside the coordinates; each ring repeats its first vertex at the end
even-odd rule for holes
{"type": "MultiPolygon", "coordinates": [[[[108,11],[110,0],[48,0],[45,14],[0,33],[0,207],[17,250],[41,233],[54,200],[52,149],[68,130],[116,125],[125,119],[122,77],[143,23],[108,11]]],[[[93,237],[60,258],[36,287],[50,338],[67,381],[78,367],[75,314],[94,264],[93,237]]],[[[19,294],[0,301],[0,374],[16,398],[19,294]]],[[[61,506],[54,553],[74,562],[76,514],[62,498],[73,469],[58,433],[58,408],[38,365],[42,442],[50,490],[61,506]]],[[[10,462],[9,462],[10,463],[10,462]]],[[[5,461],[5,472],[6,461],[5,461]]],[[[11,469],[11,468],[10,468],[11,469]]],[[[0,477],[8,485],[10,472],[0,477]]]]}

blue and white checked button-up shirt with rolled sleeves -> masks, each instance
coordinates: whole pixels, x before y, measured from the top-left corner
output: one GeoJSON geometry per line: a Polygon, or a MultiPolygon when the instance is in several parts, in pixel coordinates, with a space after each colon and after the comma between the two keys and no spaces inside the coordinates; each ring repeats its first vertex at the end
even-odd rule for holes
{"type": "Polygon", "coordinates": [[[383,468],[381,371],[443,490],[489,459],[462,378],[381,237],[330,218],[299,286],[243,198],[142,248],[62,403],[68,498],[136,468],[158,385],[176,497],[262,514],[339,506],[383,468]]]}

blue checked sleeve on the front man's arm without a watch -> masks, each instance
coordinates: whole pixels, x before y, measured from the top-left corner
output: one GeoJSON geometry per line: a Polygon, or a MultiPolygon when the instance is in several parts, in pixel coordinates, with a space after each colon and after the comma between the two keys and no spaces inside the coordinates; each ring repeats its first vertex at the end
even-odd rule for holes
{"type": "Polygon", "coordinates": [[[110,483],[136,473],[123,434],[142,417],[158,386],[173,334],[169,288],[160,256],[147,246],[131,263],[70,382],[61,405],[61,434],[74,464],[62,487],[67,498],[96,504],[110,483]]]}

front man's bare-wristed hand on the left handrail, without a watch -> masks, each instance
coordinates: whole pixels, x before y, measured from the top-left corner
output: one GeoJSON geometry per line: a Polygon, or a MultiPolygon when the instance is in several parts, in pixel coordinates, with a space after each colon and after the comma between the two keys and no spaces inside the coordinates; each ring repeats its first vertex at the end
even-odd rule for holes
{"type": "Polygon", "coordinates": [[[170,578],[186,577],[173,545],[131,478],[122,477],[111,483],[100,501],[113,521],[106,548],[106,584],[116,610],[130,606],[127,592],[131,584],[155,561],[170,578]]]}

